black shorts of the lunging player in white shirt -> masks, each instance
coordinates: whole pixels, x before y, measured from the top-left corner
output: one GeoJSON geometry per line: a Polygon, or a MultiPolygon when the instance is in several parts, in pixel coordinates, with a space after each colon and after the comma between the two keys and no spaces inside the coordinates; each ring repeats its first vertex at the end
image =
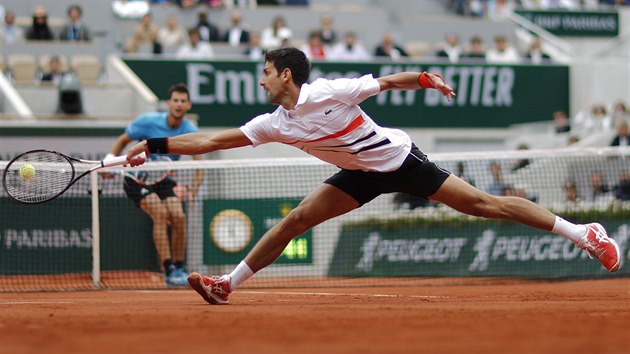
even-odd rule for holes
{"type": "Polygon", "coordinates": [[[335,173],[324,183],[348,193],[365,204],[384,193],[402,192],[428,197],[442,186],[451,173],[429,161],[415,145],[399,169],[392,172],[344,170],[335,173]]]}

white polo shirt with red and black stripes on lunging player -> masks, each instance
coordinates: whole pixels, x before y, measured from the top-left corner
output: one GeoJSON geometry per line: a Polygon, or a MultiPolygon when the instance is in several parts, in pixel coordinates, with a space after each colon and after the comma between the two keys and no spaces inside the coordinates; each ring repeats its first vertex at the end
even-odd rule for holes
{"type": "Polygon", "coordinates": [[[379,92],[372,75],[317,79],[302,85],[295,109],[279,106],[240,129],[254,146],[278,142],[340,168],[394,171],[409,154],[411,139],[401,130],[378,126],[358,106],[379,92]]]}

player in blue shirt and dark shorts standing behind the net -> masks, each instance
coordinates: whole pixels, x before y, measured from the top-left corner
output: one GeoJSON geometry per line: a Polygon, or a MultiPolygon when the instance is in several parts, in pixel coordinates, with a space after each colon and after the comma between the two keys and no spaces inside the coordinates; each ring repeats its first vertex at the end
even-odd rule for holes
{"type": "MultiPolygon", "coordinates": [[[[199,129],[187,118],[191,109],[190,93],[184,84],[176,84],[168,91],[168,112],[150,112],[132,121],[112,145],[110,156],[120,154],[132,141],[148,138],[176,136],[197,132],[199,129]]],[[[167,155],[171,160],[179,160],[180,155],[167,155]]],[[[200,155],[193,159],[200,160],[200,155]]],[[[196,194],[203,181],[203,170],[195,175],[191,193],[196,194]]],[[[168,177],[155,185],[143,186],[130,177],[125,177],[124,190],[129,199],[153,220],[153,242],[164,267],[167,286],[187,286],[188,274],[184,269],[186,255],[186,216],[182,202],[175,193],[177,182],[168,177]],[[171,227],[169,242],[168,227],[171,227]]]]}

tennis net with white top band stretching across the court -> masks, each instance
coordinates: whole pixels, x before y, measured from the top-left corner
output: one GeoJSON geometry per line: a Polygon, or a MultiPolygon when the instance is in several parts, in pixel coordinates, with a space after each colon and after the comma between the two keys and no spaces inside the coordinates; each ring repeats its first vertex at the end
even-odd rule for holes
{"type": "MultiPolygon", "coordinates": [[[[628,149],[429,157],[479,189],[531,199],[574,222],[598,221],[617,240],[624,258],[630,256],[628,149]]],[[[230,272],[269,228],[338,170],[312,158],[182,161],[172,169],[185,212],[185,268],[203,274],[230,272]],[[195,194],[187,186],[198,171],[203,184],[195,194]]],[[[156,251],[156,242],[163,241],[154,240],[155,224],[123,185],[120,173],[113,178],[94,173],[41,205],[17,204],[2,190],[0,291],[165,288],[156,251]]],[[[170,237],[177,233],[177,221],[164,227],[170,237]]],[[[627,267],[607,273],[549,232],[466,216],[423,198],[385,194],[296,237],[273,265],[242,287],[628,274],[627,267]]]]}

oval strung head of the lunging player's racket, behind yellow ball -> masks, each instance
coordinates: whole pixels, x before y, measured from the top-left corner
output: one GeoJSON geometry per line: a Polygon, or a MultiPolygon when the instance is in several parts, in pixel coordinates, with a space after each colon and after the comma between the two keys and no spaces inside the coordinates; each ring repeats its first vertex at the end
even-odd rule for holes
{"type": "Polygon", "coordinates": [[[63,192],[73,178],[73,166],[65,157],[53,152],[37,151],[24,154],[7,166],[5,187],[13,198],[25,203],[37,203],[63,192]],[[24,167],[28,165],[32,169],[24,167]]]}

